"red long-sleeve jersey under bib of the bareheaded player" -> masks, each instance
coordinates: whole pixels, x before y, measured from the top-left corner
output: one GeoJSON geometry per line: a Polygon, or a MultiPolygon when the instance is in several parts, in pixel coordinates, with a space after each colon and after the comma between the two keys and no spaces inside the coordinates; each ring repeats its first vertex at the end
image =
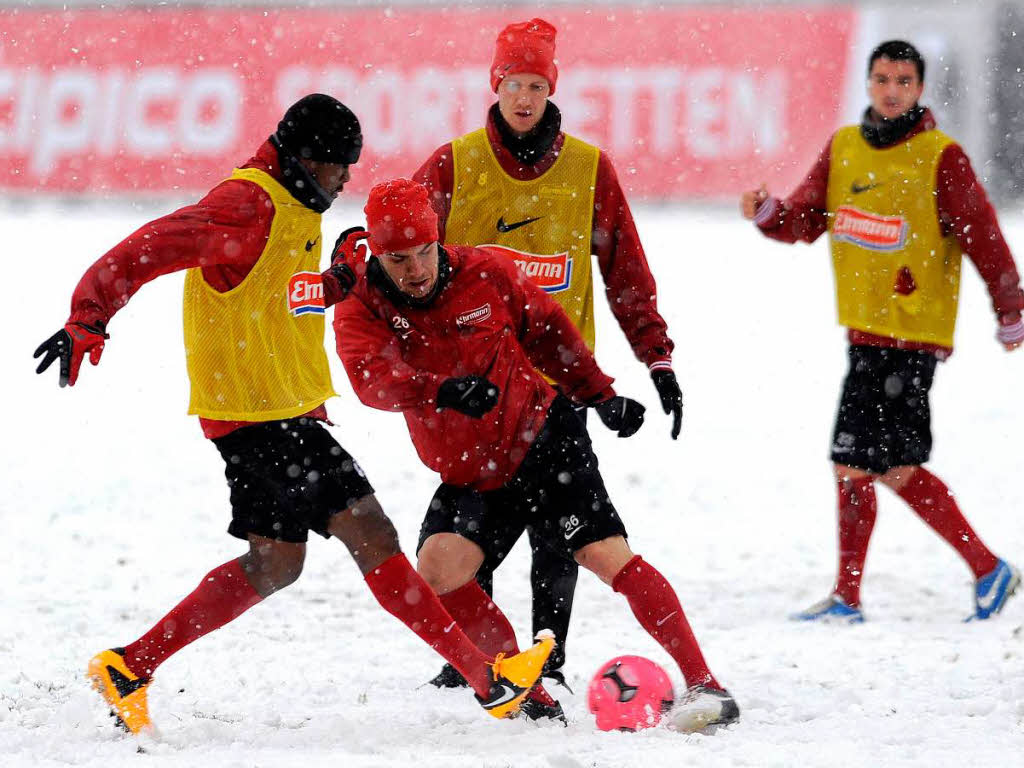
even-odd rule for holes
{"type": "MultiPolygon", "coordinates": [[[[935,118],[926,110],[921,121],[902,141],[935,128],[935,118]]],[[[785,200],[769,198],[758,208],[755,223],[767,237],[782,243],[813,243],[828,228],[826,196],[831,158],[831,139],[825,144],[804,180],[785,200]]],[[[1020,318],[1024,292],[1014,257],[999,229],[999,222],[974,169],[959,144],[949,144],[939,158],[936,171],[936,210],[943,236],[953,236],[985,282],[992,308],[1000,323],[1020,318]]],[[[948,355],[952,349],[908,342],[850,329],[851,344],[928,349],[948,355]]]]}

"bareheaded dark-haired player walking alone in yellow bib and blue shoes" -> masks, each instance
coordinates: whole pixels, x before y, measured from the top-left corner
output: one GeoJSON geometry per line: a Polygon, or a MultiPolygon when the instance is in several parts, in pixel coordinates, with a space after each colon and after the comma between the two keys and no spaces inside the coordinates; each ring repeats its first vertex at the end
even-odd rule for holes
{"type": "Polygon", "coordinates": [[[762,187],[742,214],[767,237],[831,243],[839,322],[850,369],[831,461],[839,494],[833,594],[795,617],[861,622],[860,582],[876,518],[874,481],[889,486],[952,546],[975,578],[971,620],[999,612],[1020,572],[982,543],[952,494],[923,466],[932,447],[929,389],[952,353],[962,253],[978,268],[1006,349],[1024,342],[1024,293],[995,212],[970,161],[919,104],[925,62],[894,40],[868,60],[870,105],[837,131],[784,201],[762,187]]]}

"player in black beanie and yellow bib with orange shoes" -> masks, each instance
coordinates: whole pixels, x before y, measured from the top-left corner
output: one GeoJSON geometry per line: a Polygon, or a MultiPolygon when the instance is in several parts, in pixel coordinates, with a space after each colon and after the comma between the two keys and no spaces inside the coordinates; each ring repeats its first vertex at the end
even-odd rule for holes
{"type": "Polygon", "coordinates": [[[132,733],[153,729],[157,668],[298,579],[309,530],[345,544],[382,607],[457,667],[492,715],[518,708],[507,691],[525,693],[551,651],[545,639],[494,660],[471,643],[401,553],[359,465],[324,427],[335,392],[324,351],[321,214],[361,146],[344,104],[319,93],[300,99],[227,180],[96,261],[75,289],[68,323],[36,350],[37,373],[59,360],[60,386],[74,385],[86,353],[99,361],[115,312],[148,281],[187,270],[188,412],[224,460],[227,531],[249,551],[211,570],[141,637],[89,663],[93,687],[132,733]]]}

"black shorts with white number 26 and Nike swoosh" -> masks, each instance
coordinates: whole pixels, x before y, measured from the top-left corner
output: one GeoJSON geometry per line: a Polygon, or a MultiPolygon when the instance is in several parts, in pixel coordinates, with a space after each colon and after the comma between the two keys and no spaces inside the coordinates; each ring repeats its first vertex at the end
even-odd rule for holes
{"type": "Polygon", "coordinates": [[[627,536],[604,488],[587,427],[562,396],[551,404],[526,458],[502,487],[481,492],[441,483],[430,500],[417,551],[434,534],[458,534],[479,546],[488,560],[500,558],[526,526],[566,559],[588,544],[627,536]]]}

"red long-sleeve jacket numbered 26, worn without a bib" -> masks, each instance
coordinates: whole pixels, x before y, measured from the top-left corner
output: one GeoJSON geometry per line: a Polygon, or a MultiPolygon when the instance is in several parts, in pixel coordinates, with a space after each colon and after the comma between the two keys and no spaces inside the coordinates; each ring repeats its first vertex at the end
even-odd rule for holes
{"type": "Polygon", "coordinates": [[[485,248],[445,251],[449,283],[428,307],[361,278],[335,310],[338,354],[362,402],[404,415],[424,464],[485,490],[515,474],[544,425],[555,392],[538,371],[578,401],[614,390],[564,310],[515,264],[485,248]],[[438,411],[440,384],[473,374],[498,387],[498,404],[480,419],[438,411]]]}

